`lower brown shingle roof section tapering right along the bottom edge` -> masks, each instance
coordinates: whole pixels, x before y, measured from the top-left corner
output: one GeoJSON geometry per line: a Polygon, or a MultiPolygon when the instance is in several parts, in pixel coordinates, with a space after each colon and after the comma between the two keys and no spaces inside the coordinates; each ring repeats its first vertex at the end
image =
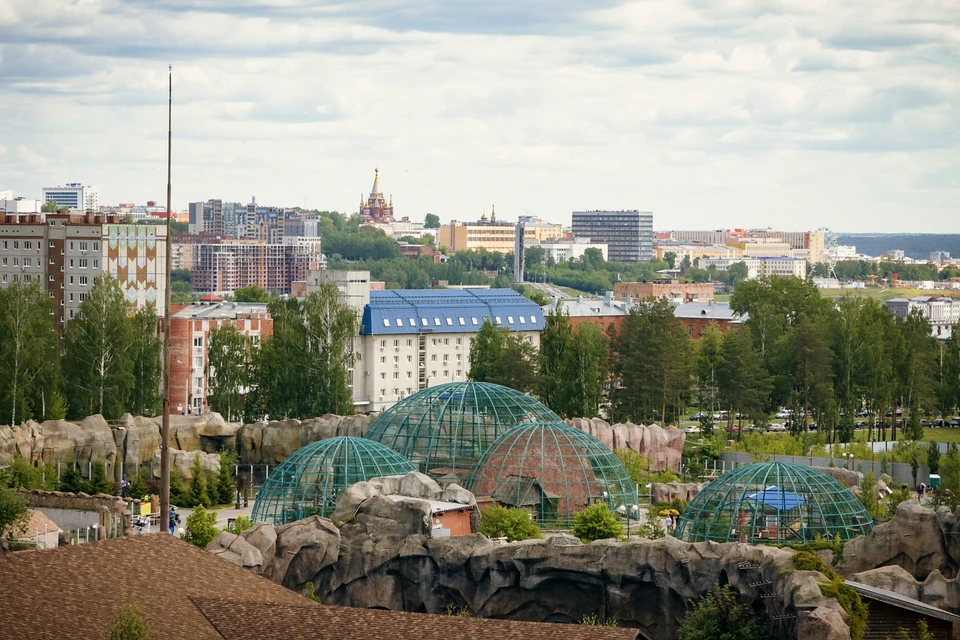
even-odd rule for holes
{"type": "Polygon", "coordinates": [[[489,618],[461,618],[384,609],[354,609],[227,599],[194,598],[224,638],[287,640],[305,637],[369,640],[634,640],[636,629],[591,627],[579,624],[514,622],[489,618]]]}

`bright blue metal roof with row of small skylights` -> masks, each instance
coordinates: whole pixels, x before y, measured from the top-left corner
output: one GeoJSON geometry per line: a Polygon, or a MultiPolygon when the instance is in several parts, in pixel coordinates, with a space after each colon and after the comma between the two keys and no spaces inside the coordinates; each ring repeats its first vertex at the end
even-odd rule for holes
{"type": "Polygon", "coordinates": [[[467,333],[483,319],[511,331],[542,331],[543,312],[513,289],[371,291],[363,308],[364,335],[467,333]]]}

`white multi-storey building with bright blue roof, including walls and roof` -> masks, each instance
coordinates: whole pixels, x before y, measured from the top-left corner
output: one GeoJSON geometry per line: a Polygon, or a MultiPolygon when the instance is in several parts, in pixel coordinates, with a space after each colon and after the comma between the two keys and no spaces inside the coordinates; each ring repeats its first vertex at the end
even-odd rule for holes
{"type": "Polygon", "coordinates": [[[467,380],[484,319],[537,349],[543,312],[513,289],[371,291],[354,365],[354,404],[383,411],[427,387],[467,380]]]}

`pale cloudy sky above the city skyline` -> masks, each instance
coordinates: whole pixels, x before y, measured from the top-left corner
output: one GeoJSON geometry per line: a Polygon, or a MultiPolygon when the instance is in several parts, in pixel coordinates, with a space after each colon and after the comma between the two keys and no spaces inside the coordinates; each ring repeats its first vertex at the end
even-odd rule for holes
{"type": "Polygon", "coordinates": [[[960,232],[957,0],[0,0],[0,189],[960,232]]]}

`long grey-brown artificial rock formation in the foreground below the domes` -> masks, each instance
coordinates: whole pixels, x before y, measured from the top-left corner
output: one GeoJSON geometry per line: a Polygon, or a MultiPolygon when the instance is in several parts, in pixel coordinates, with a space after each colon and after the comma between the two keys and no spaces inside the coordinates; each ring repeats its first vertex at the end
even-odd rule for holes
{"type": "Polygon", "coordinates": [[[260,552],[260,565],[229,535],[208,550],[290,588],[313,582],[327,604],[431,613],[454,605],[482,617],[557,622],[597,615],[637,627],[651,640],[676,638],[689,600],[728,582],[771,616],[796,614],[777,623],[788,625],[791,637],[849,640],[846,614],[817,586],[824,577],[793,570],[789,549],[674,538],[584,545],[565,534],[510,544],[480,534],[432,539],[423,503],[384,497],[397,491],[433,497],[438,490],[444,499],[472,499],[421,474],[377,479],[341,495],[333,516],[339,529],[314,516],[276,528],[257,524],[241,534],[260,552]],[[293,528],[296,542],[285,544],[293,528]],[[781,599],[761,598],[751,586],[767,581],[781,599]]]}

